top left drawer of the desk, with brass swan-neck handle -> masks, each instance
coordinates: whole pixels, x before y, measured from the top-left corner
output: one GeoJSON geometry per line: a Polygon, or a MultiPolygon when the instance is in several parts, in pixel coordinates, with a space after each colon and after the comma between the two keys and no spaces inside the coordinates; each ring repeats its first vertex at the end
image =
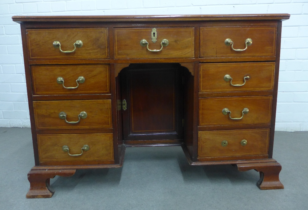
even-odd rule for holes
{"type": "Polygon", "coordinates": [[[27,29],[26,34],[30,60],[109,58],[108,28],[27,29]],[[82,46],[75,44],[77,40],[82,46]],[[55,41],[63,51],[76,49],[61,52],[55,41]]]}

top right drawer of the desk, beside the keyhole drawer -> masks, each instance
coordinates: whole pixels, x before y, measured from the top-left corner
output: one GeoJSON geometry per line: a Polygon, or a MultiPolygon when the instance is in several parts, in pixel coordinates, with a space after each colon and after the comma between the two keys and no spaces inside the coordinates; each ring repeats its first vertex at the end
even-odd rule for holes
{"type": "Polygon", "coordinates": [[[277,26],[200,27],[200,57],[263,57],[276,54],[277,26]],[[247,38],[252,44],[245,49],[247,38]],[[231,39],[232,46],[225,40],[231,39]]]}

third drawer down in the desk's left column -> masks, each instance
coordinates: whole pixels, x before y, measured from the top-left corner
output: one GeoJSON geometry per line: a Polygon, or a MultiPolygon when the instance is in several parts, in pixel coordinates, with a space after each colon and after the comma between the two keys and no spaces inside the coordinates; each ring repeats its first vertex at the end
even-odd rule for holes
{"type": "Polygon", "coordinates": [[[109,99],[33,101],[33,107],[36,129],[112,128],[109,99]],[[78,123],[68,123],[77,122],[79,118],[78,123]]]}

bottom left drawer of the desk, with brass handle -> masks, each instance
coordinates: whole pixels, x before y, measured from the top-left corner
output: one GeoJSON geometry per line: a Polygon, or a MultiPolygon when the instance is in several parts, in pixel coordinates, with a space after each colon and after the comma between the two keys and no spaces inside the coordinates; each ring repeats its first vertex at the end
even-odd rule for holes
{"type": "Polygon", "coordinates": [[[112,133],[39,134],[37,139],[40,162],[114,160],[112,133]],[[63,151],[64,145],[71,155],[81,154],[84,145],[89,150],[83,150],[80,156],[70,156],[63,151]]]}

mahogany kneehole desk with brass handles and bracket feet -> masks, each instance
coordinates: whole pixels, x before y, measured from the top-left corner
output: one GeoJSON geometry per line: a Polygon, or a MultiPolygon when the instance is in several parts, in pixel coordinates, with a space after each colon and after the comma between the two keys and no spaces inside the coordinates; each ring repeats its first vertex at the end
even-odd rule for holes
{"type": "Polygon", "coordinates": [[[289,14],[14,16],[21,24],[35,166],[50,178],[117,168],[128,146],[181,146],[191,165],[260,172],[272,158],[282,20],[289,14]]]}

